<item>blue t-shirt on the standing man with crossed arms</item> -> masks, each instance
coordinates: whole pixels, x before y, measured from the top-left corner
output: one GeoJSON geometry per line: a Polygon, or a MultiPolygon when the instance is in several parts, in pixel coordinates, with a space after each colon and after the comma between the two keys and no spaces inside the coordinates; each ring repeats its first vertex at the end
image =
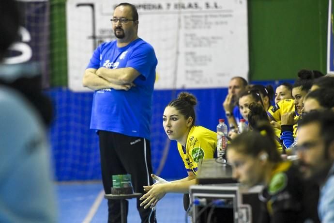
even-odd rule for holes
{"type": "Polygon", "coordinates": [[[101,89],[94,92],[91,128],[150,139],[152,93],[158,61],[150,44],[138,38],[125,47],[117,41],[95,49],[87,68],[132,67],[140,75],[128,91],[101,89]]]}

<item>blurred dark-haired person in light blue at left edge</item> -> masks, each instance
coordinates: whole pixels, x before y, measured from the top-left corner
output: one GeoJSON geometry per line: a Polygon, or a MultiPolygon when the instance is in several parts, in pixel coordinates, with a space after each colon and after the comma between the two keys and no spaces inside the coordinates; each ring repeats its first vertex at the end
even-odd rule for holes
{"type": "Polygon", "coordinates": [[[0,222],[56,223],[46,127],[51,103],[38,64],[4,64],[18,38],[15,0],[0,1],[0,222]]]}

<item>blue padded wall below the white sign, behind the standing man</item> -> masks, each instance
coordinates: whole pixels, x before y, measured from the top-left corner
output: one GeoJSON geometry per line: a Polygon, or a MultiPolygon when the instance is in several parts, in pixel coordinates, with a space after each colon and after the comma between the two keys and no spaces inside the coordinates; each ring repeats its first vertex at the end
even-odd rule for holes
{"type": "MultiPolygon", "coordinates": [[[[283,81],[257,81],[275,88],[283,81]]],[[[291,81],[289,81],[291,82],[291,81]]],[[[181,178],[186,171],[176,142],[169,142],[162,127],[162,114],[168,102],[183,90],[155,90],[152,112],[152,165],[164,178],[181,178]],[[165,165],[160,165],[162,158],[165,165]]],[[[219,118],[225,118],[222,103],[227,89],[186,90],[197,97],[196,124],[215,131],[219,118]]],[[[54,102],[55,119],[50,129],[50,142],[55,177],[58,181],[101,179],[98,137],[89,129],[92,93],[75,93],[67,88],[46,92],[54,102]]]]}

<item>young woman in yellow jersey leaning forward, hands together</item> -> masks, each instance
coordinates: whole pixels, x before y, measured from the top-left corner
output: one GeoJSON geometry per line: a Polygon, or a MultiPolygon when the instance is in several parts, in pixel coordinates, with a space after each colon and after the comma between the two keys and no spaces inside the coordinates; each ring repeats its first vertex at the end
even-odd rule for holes
{"type": "Polygon", "coordinates": [[[169,102],[163,114],[165,132],[170,140],[178,142],[178,150],[188,176],[168,182],[152,174],[152,178],[157,182],[152,186],[144,186],[147,193],[140,198],[143,201],[140,206],[154,207],[168,192],[187,193],[189,186],[196,184],[199,160],[213,159],[217,134],[205,127],[195,126],[196,104],[195,96],[183,92],[177,99],[169,102]]]}

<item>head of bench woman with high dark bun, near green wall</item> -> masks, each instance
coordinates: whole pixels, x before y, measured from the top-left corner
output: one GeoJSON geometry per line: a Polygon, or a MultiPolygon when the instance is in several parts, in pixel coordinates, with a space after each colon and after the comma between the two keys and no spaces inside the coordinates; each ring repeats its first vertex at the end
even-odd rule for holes
{"type": "Polygon", "coordinates": [[[320,77],[323,77],[323,74],[317,70],[300,70],[298,72],[298,79],[292,86],[292,96],[294,99],[296,112],[299,114],[303,109],[304,97],[311,89],[313,81],[320,77]]]}

